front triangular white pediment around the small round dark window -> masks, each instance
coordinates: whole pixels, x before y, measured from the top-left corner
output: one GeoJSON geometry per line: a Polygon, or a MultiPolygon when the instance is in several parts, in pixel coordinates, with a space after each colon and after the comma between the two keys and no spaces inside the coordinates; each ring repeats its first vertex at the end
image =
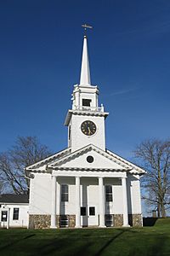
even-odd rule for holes
{"type": "Polygon", "coordinates": [[[90,144],[86,147],[80,148],[77,151],[67,154],[65,157],[54,160],[51,168],[73,168],[73,169],[111,169],[111,170],[131,170],[132,167],[123,163],[121,160],[115,159],[111,154],[107,154],[100,148],[90,144]],[[94,157],[93,163],[88,163],[87,157],[91,155],[94,157]]]}

